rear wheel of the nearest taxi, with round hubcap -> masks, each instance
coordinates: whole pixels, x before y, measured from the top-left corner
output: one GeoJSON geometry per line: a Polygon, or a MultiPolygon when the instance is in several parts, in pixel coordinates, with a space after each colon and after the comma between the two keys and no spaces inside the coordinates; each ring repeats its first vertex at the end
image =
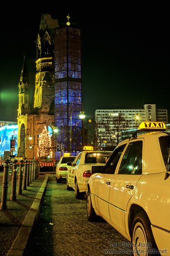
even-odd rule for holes
{"type": "Polygon", "coordinates": [[[160,255],[152,234],[149,219],[145,213],[138,213],[133,220],[131,242],[134,256],[160,255]],[[142,252],[145,253],[142,254],[142,252]]]}

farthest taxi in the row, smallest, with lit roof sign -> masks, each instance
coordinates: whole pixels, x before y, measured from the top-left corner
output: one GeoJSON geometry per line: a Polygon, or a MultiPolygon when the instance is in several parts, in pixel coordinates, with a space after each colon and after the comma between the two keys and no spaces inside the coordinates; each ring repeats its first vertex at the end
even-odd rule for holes
{"type": "Polygon", "coordinates": [[[66,179],[68,165],[67,162],[73,162],[75,157],[70,156],[70,153],[64,153],[63,157],[60,158],[57,166],[56,166],[56,181],[60,183],[62,179],[66,179]]]}

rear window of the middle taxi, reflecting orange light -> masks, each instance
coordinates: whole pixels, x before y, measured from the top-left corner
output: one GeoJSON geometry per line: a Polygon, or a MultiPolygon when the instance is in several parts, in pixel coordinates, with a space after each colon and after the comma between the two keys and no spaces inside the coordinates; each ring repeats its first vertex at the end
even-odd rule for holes
{"type": "Polygon", "coordinates": [[[86,153],[85,163],[105,163],[111,152],[86,153]]]}

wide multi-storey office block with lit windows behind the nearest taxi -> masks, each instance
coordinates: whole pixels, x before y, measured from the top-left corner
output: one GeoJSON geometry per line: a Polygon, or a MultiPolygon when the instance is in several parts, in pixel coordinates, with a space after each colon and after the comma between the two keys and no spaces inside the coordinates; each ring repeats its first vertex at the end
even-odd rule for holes
{"type": "Polygon", "coordinates": [[[168,112],[156,109],[156,104],[145,104],[143,109],[97,109],[95,120],[96,146],[115,147],[121,141],[123,130],[137,129],[144,121],[168,124],[168,112]]]}

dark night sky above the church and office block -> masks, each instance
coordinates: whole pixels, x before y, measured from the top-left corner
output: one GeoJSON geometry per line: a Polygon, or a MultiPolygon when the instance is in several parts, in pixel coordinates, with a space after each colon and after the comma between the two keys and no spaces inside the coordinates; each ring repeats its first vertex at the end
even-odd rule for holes
{"type": "MultiPolygon", "coordinates": [[[[83,110],[143,108],[156,104],[170,116],[170,41],[165,20],[149,23],[124,16],[49,10],[11,12],[3,20],[0,40],[0,120],[17,121],[18,83],[26,54],[31,86],[35,80],[35,41],[41,14],[82,31],[83,110]],[[3,40],[2,40],[3,38],[3,40]]],[[[115,14],[116,15],[116,14],[115,14]]],[[[146,21],[146,20],[145,20],[146,21]]],[[[1,23],[2,24],[2,23],[1,23]]],[[[169,118],[170,122],[170,118],[169,118]]]]}

